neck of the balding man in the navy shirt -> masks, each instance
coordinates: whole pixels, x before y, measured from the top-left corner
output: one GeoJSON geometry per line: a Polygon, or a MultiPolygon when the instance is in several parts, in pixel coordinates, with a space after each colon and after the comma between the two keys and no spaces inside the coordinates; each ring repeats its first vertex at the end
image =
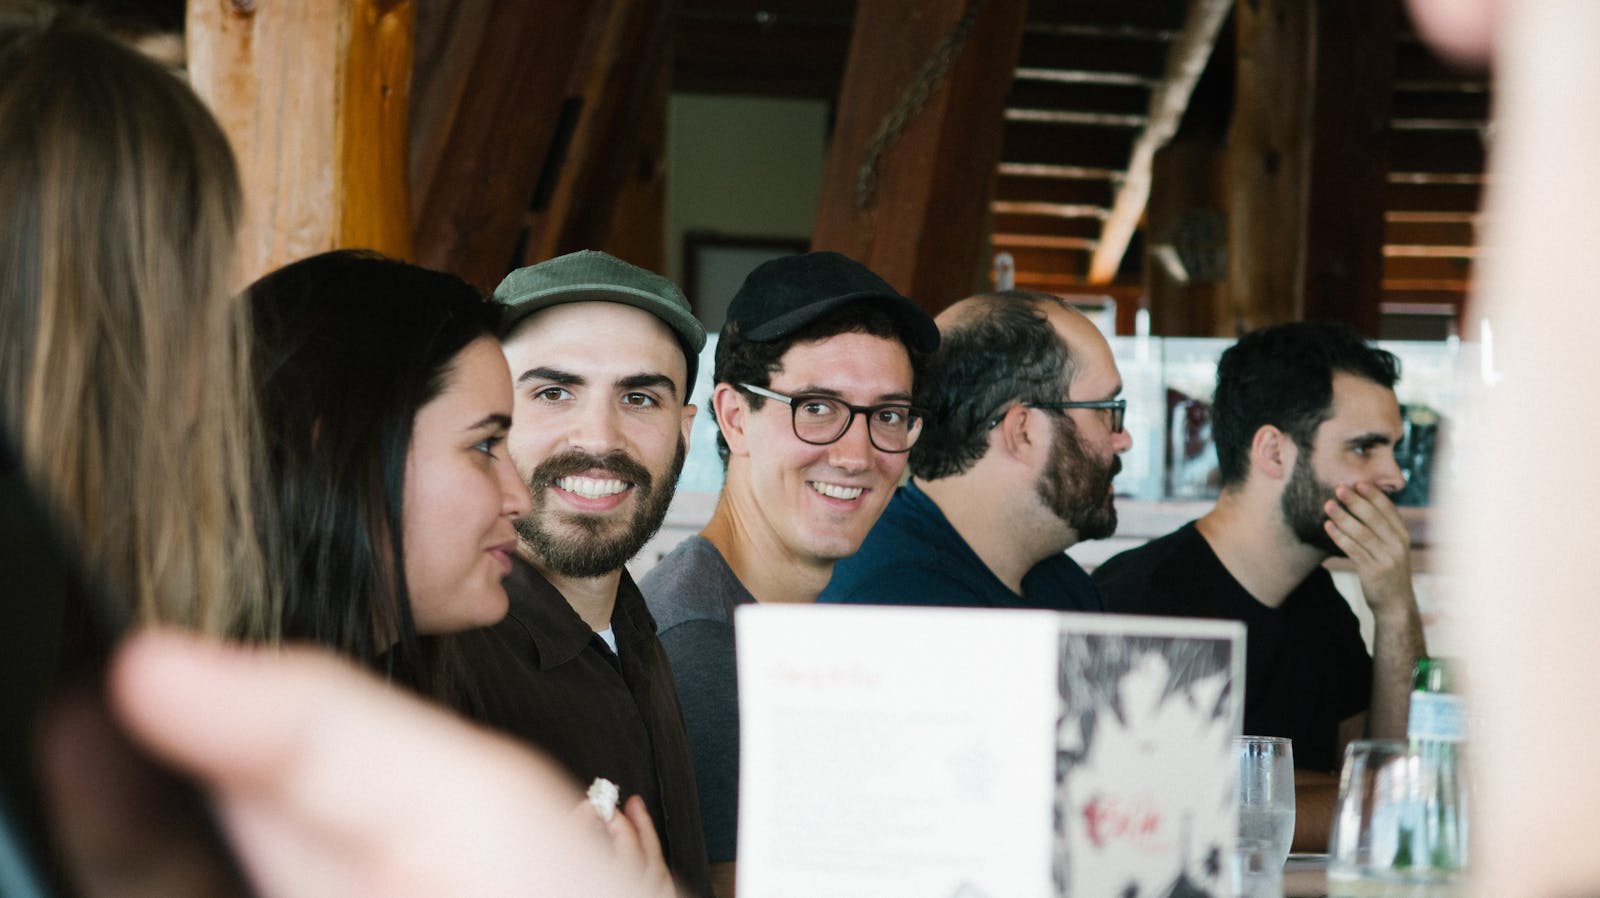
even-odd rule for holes
{"type": "MultiPolygon", "coordinates": [[[[939,506],[944,519],[978,554],[984,567],[1006,589],[1021,595],[1022,578],[1027,571],[1050,555],[1066,551],[1067,546],[1077,543],[1077,536],[1070,531],[1062,533],[1064,525],[1054,520],[1054,515],[1050,522],[1043,522],[1013,503],[997,503],[997,495],[1022,493],[997,488],[992,479],[978,475],[979,471],[981,467],[974,467],[968,474],[941,480],[920,477],[912,480],[923,495],[933,499],[933,504],[939,506]]],[[[1027,495],[1032,496],[1032,491],[1027,495]]]]}

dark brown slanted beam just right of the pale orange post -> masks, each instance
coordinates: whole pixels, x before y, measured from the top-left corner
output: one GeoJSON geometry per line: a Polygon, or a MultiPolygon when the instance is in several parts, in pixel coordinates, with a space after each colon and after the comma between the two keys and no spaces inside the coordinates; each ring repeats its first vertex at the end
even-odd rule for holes
{"type": "Polygon", "coordinates": [[[592,16],[608,3],[430,2],[445,5],[429,34],[453,37],[419,72],[418,259],[493,288],[512,266],[592,16]]]}

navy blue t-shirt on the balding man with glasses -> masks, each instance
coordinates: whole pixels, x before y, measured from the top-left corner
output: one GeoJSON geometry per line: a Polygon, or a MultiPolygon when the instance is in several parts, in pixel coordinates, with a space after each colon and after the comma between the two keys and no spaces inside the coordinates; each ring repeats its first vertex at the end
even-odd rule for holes
{"type": "Polygon", "coordinates": [[[818,602],[1051,611],[1104,608],[1094,581],[1066,552],[1034,565],[1022,578],[1022,595],[1011,592],[915,483],[901,487],[861,549],[834,565],[834,579],[818,602]]]}

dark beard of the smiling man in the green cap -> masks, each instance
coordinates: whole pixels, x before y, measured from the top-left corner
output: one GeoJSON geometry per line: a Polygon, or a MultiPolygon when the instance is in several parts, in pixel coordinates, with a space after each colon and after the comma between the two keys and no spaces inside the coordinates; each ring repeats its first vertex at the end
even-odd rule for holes
{"type": "Polygon", "coordinates": [[[634,461],[622,451],[595,456],[582,451],[557,455],[539,463],[528,480],[533,493],[533,511],[528,517],[518,519],[517,535],[522,536],[534,557],[544,567],[563,576],[600,576],[611,573],[627,563],[629,559],[661,530],[661,522],[667,517],[667,506],[672,504],[672,493],[678,483],[678,472],[683,469],[683,456],[688,447],[678,437],[678,448],[672,456],[672,464],[666,475],[656,483],[643,464],[634,461]],[[606,533],[611,522],[592,514],[563,512],[552,523],[578,528],[578,535],[563,535],[557,527],[546,523],[547,511],[546,487],[552,487],[562,477],[582,474],[587,471],[610,471],[619,480],[634,485],[635,511],[621,533],[606,533]]]}

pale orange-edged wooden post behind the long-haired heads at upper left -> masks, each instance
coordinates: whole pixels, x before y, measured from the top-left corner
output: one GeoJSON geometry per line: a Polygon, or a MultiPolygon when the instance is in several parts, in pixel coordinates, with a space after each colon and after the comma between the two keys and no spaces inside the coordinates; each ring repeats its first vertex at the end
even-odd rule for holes
{"type": "Polygon", "coordinates": [[[411,256],[410,0],[187,6],[189,75],[238,157],[238,279],[368,247],[411,256]]]}

